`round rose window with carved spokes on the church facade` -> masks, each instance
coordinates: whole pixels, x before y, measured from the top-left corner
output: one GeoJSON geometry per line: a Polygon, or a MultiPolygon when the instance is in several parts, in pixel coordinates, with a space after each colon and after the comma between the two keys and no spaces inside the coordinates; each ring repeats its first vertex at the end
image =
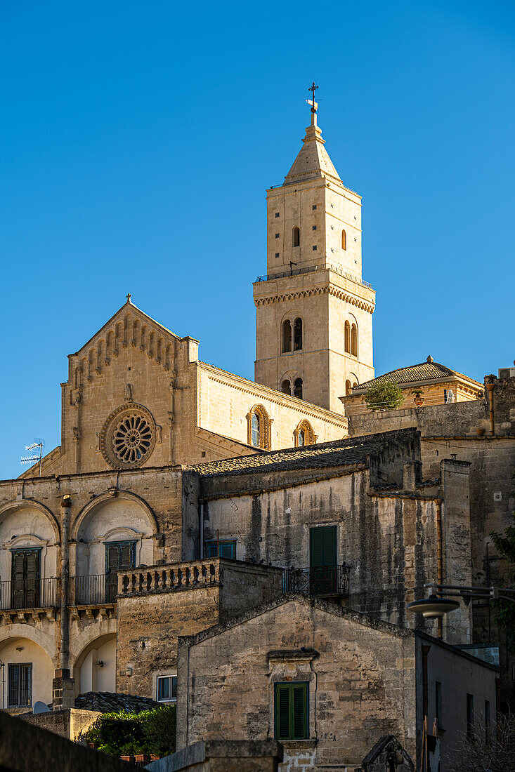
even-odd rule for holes
{"type": "Polygon", "coordinates": [[[100,441],[104,459],[115,469],[142,466],[155,445],[152,413],[134,402],[121,405],[107,418],[100,441]]]}

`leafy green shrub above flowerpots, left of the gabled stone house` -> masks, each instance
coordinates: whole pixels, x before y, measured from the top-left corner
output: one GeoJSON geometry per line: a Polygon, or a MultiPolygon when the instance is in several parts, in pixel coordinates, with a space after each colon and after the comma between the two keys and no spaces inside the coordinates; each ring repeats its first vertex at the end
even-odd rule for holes
{"type": "Polygon", "coordinates": [[[110,756],[165,756],[176,749],[176,706],[164,705],[141,713],[102,713],[77,740],[94,743],[110,756]]]}

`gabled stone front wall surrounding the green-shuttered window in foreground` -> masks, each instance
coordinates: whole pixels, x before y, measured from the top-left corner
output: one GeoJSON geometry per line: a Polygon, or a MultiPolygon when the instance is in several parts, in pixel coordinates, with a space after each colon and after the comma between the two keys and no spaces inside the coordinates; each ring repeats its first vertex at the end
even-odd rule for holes
{"type": "Polygon", "coordinates": [[[309,682],[309,740],[283,770],[359,766],[385,734],[414,756],[415,653],[408,632],[298,597],[180,642],[177,747],[275,736],[274,684],[309,682]]]}

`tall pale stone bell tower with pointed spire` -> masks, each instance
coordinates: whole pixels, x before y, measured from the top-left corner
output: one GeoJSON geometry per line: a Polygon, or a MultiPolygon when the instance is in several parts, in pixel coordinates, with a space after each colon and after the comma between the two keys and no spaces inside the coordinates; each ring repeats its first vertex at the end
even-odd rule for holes
{"type": "Polygon", "coordinates": [[[254,283],[257,383],[341,413],[373,378],[375,292],[361,277],[361,197],[346,188],[317,125],[283,185],[267,191],[267,275],[254,283]]]}

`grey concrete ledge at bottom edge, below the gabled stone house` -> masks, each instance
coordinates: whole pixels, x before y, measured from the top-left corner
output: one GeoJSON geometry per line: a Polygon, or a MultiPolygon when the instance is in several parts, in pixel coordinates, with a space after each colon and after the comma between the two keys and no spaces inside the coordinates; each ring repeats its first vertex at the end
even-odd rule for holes
{"type": "Polygon", "coordinates": [[[171,756],[152,761],[145,769],[152,772],[176,772],[197,765],[203,765],[203,770],[211,766],[217,770],[250,769],[248,764],[241,766],[241,759],[245,758],[254,760],[253,769],[276,770],[282,757],[282,745],[276,740],[209,740],[193,743],[171,756]],[[210,760],[217,760],[217,763],[209,764],[210,760]],[[220,760],[223,760],[222,764],[220,760]]]}

